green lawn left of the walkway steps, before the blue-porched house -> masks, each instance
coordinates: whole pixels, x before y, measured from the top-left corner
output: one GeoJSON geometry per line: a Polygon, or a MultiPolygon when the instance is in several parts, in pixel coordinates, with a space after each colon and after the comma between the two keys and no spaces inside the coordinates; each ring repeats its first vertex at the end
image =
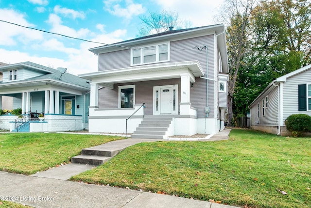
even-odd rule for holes
{"type": "Polygon", "coordinates": [[[37,171],[69,163],[83,148],[123,137],[64,133],[0,134],[0,170],[34,174],[37,171]]]}

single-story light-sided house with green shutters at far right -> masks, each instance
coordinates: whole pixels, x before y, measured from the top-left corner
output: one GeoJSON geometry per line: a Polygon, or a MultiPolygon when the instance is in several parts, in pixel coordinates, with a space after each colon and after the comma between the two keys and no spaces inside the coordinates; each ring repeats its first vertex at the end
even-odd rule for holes
{"type": "Polygon", "coordinates": [[[288,116],[311,115],[311,65],[278,77],[249,108],[253,129],[288,135],[284,123],[288,116]]]}

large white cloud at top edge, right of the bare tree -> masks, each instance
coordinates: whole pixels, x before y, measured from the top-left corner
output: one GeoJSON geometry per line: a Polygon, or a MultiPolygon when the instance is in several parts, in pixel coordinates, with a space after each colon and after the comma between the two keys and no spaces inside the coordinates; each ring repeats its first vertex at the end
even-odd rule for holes
{"type": "Polygon", "coordinates": [[[224,0],[154,0],[161,9],[176,11],[183,20],[190,20],[193,27],[217,24],[213,17],[224,0]]]}

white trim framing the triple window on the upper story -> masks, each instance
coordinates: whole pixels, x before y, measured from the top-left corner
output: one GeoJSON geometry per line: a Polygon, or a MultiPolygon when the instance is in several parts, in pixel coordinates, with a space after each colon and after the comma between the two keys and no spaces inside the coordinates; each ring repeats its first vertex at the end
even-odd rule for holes
{"type": "Polygon", "coordinates": [[[142,46],[138,46],[135,48],[131,49],[131,66],[139,66],[139,65],[144,65],[144,64],[152,64],[152,63],[161,63],[161,62],[168,62],[170,61],[170,42],[160,42],[157,44],[149,44],[149,45],[142,45],[142,46]],[[159,61],[159,50],[158,47],[159,45],[165,45],[167,44],[167,60],[162,60],[159,61]],[[152,47],[155,46],[155,61],[154,62],[148,62],[148,63],[144,63],[143,59],[144,59],[144,48],[148,48],[148,47],[152,47]],[[140,49],[140,63],[138,64],[133,64],[133,50],[135,49],[140,49]]]}

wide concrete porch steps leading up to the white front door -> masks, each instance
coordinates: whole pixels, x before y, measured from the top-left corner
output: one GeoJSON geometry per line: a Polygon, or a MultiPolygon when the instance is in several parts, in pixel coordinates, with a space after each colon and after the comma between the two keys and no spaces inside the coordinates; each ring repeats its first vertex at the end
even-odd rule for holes
{"type": "Polygon", "coordinates": [[[146,116],[131,138],[163,139],[172,123],[172,117],[146,116]]]}

